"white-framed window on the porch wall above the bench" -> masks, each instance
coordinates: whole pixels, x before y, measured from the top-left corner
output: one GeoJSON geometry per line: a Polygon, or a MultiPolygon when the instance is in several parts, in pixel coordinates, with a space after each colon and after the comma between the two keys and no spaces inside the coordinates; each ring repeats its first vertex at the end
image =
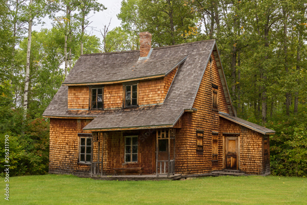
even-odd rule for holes
{"type": "Polygon", "coordinates": [[[125,162],[138,162],[138,136],[125,137],[125,162]]]}

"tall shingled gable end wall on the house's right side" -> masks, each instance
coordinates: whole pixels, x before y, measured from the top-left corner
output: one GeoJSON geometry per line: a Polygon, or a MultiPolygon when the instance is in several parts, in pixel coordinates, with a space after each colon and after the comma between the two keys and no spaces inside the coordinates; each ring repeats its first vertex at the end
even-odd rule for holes
{"type": "Polygon", "coordinates": [[[229,113],[226,99],[223,92],[220,75],[216,66],[213,53],[212,65],[209,63],[206,67],[204,76],[201,80],[199,90],[193,108],[197,109],[195,113],[185,112],[182,118],[182,128],[176,131],[176,149],[184,151],[176,155],[176,171],[184,175],[209,173],[213,170],[222,168],[222,136],[218,138],[218,162],[212,162],[212,131],[219,132],[220,119],[218,111],[212,110],[212,83],[218,85],[218,110],[229,113]],[[204,130],[204,151],[196,151],[196,129],[204,130]]]}

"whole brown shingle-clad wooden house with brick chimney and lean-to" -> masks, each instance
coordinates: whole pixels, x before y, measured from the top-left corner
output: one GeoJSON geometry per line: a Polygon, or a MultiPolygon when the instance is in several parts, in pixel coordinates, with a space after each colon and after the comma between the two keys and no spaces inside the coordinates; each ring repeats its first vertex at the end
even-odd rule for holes
{"type": "Polygon", "coordinates": [[[81,55],[43,116],[49,173],[270,174],[274,131],[234,116],[215,40],[81,55]]]}

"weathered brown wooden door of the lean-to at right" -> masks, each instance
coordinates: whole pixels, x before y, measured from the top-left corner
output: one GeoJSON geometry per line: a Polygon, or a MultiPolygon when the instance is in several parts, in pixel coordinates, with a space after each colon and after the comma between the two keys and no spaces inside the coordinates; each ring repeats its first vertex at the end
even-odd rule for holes
{"type": "Polygon", "coordinates": [[[239,143],[238,137],[225,137],[225,168],[238,170],[239,143]]]}

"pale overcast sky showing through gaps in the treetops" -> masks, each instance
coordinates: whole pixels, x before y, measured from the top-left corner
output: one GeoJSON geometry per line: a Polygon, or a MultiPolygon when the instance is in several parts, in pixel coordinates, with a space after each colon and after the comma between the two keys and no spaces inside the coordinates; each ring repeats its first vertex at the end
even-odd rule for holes
{"type": "MultiPolygon", "coordinates": [[[[91,24],[89,26],[93,27],[93,30],[91,27],[87,27],[87,34],[90,34],[91,31],[93,31],[93,35],[101,38],[101,34],[99,30],[103,28],[103,25],[108,25],[111,20],[111,24],[109,27],[109,30],[112,30],[116,26],[120,26],[121,21],[117,19],[116,14],[120,12],[121,2],[122,0],[97,0],[97,2],[102,3],[107,9],[103,11],[96,12],[95,14],[91,12],[89,17],[89,21],[91,24]],[[98,31],[95,31],[98,30],[98,31]]],[[[60,15],[60,14],[59,14],[60,15]]],[[[33,30],[41,30],[41,28],[52,28],[52,20],[50,20],[48,17],[44,18],[45,25],[37,25],[33,26],[33,30]]]]}

